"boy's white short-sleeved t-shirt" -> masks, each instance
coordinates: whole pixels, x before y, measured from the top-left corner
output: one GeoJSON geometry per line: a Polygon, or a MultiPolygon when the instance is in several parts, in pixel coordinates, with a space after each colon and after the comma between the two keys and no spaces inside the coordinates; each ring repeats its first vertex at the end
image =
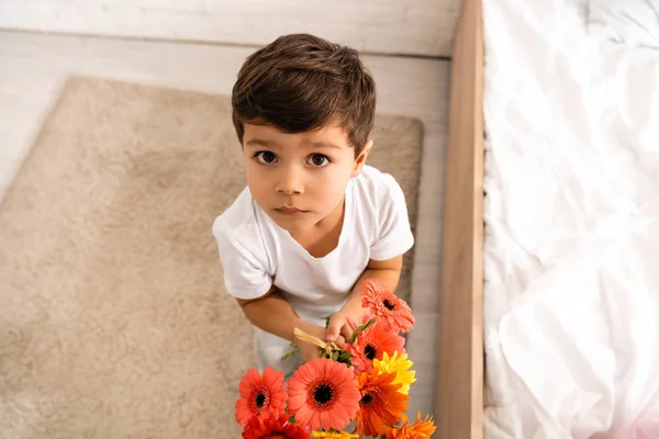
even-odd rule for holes
{"type": "Polygon", "coordinates": [[[392,176],[369,166],[349,180],[338,245],[322,258],[279,227],[248,188],[215,219],[213,235],[231,295],[257,299],[273,283],[301,318],[323,326],[369,259],[391,259],[414,244],[403,191],[392,176]]]}

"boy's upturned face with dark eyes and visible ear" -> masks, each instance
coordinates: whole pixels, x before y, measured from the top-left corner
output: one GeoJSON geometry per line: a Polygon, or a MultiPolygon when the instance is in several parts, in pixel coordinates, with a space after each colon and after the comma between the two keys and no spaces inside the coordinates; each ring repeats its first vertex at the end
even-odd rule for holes
{"type": "Polygon", "coordinates": [[[369,140],[355,158],[339,126],[287,134],[245,124],[243,155],[252,196],[283,229],[312,232],[340,214],[346,185],[359,173],[371,145],[369,140]]]}

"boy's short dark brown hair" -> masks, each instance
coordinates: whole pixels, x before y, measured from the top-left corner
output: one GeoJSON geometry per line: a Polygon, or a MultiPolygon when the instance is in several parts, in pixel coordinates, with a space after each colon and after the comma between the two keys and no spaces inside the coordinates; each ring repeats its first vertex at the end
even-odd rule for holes
{"type": "Polygon", "coordinates": [[[338,120],[357,157],[373,127],[376,83],[357,50],[309,34],[280,36],[250,55],[233,88],[233,123],[302,133],[338,120]]]}

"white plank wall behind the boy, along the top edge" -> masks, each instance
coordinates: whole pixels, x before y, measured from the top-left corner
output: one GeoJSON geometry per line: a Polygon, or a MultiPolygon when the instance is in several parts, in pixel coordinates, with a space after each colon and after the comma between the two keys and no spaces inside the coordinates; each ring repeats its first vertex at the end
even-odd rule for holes
{"type": "Polygon", "coordinates": [[[263,45],[310,32],[359,50],[447,56],[460,0],[0,0],[0,29],[263,45]]]}

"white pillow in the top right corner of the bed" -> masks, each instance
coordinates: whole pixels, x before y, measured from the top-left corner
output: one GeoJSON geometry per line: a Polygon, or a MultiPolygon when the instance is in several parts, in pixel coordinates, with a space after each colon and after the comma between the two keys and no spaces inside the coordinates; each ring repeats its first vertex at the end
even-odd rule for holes
{"type": "Polygon", "coordinates": [[[659,49],[659,0],[590,0],[588,21],[593,35],[659,49]]]}

